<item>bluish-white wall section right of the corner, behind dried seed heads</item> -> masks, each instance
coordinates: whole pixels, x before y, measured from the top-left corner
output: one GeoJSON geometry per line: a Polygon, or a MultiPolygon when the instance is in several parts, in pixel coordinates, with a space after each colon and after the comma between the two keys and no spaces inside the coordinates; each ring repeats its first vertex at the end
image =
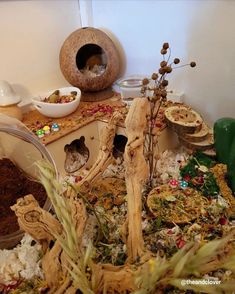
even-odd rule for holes
{"type": "Polygon", "coordinates": [[[197,67],[169,76],[170,87],[212,123],[235,118],[235,1],[93,0],[93,25],[112,34],[126,56],[125,74],[151,74],[169,42],[172,57],[197,67]]]}

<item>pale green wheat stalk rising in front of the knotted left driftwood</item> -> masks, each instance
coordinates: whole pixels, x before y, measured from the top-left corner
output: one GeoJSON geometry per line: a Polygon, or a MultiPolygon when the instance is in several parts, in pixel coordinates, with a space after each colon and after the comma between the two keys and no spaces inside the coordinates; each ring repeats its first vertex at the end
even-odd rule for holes
{"type": "MultiPolygon", "coordinates": [[[[44,185],[47,195],[51,200],[56,216],[63,227],[63,235],[54,233],[55,238],[60,243],[66,253],[66,259],[70,267],[68,270],[74,286],[84,294],[94,293],[87,278],[86,269],[91,261],[91,244],[86,252],[80,249],[76,234],[75,224],[71,214],[70,200],[62,196],[62,185],[56,179],[53,167],[46,161],[39,161],[37,166],[40,171],[40,181],[44,185]]],[[[53,232],[52,232],[53,233],[53,232]]]]}

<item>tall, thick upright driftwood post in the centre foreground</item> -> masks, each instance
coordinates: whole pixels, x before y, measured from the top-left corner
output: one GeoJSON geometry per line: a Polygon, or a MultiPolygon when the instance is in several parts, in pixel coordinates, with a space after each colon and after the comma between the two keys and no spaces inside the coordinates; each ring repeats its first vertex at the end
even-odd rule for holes
{"type": "Polygon", "coordinates": [[[128,261],[135,262],[144,254],[142,234],[142,189],[148,176],[144,158],[144,131],[147,124],[148,100],[134,99],[127,115],[128,141],[124,153],[128,204],[127,253],[128,261]]]}

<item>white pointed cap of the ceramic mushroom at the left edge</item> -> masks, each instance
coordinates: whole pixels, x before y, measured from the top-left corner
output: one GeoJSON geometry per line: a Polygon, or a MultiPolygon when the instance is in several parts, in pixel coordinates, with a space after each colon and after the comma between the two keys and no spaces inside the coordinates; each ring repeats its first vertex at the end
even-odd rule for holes
{"type": "Polygon", "coordinates": [[[0,106],[17,104],[21,98],[16,95],[13,88],[7,81],[0,81],[0,106]]]}

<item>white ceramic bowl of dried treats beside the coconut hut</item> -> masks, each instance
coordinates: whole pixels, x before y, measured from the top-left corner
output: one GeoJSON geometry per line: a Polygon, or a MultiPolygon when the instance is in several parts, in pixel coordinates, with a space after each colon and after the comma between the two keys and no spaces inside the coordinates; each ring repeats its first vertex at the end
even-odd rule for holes
{"type": "Polygon", "coordinates": [[[34,107],[43,115],[52,118],[59,118],[67,116],[73,113],[81,99],[81,90],[76,87],[65,87],[65,88],[58,88],[55,90],[48,91],[46,93],[40,94],[38,97],[32,99],[34,107]],[[49,103],[44,102],[43,100],[49,97],[55,90],[60,91],[60,96],[62,95],[70,95],[72,91],[77,92],[77,96],[75,100],[68,102],[68,103],[49,103]]]}

